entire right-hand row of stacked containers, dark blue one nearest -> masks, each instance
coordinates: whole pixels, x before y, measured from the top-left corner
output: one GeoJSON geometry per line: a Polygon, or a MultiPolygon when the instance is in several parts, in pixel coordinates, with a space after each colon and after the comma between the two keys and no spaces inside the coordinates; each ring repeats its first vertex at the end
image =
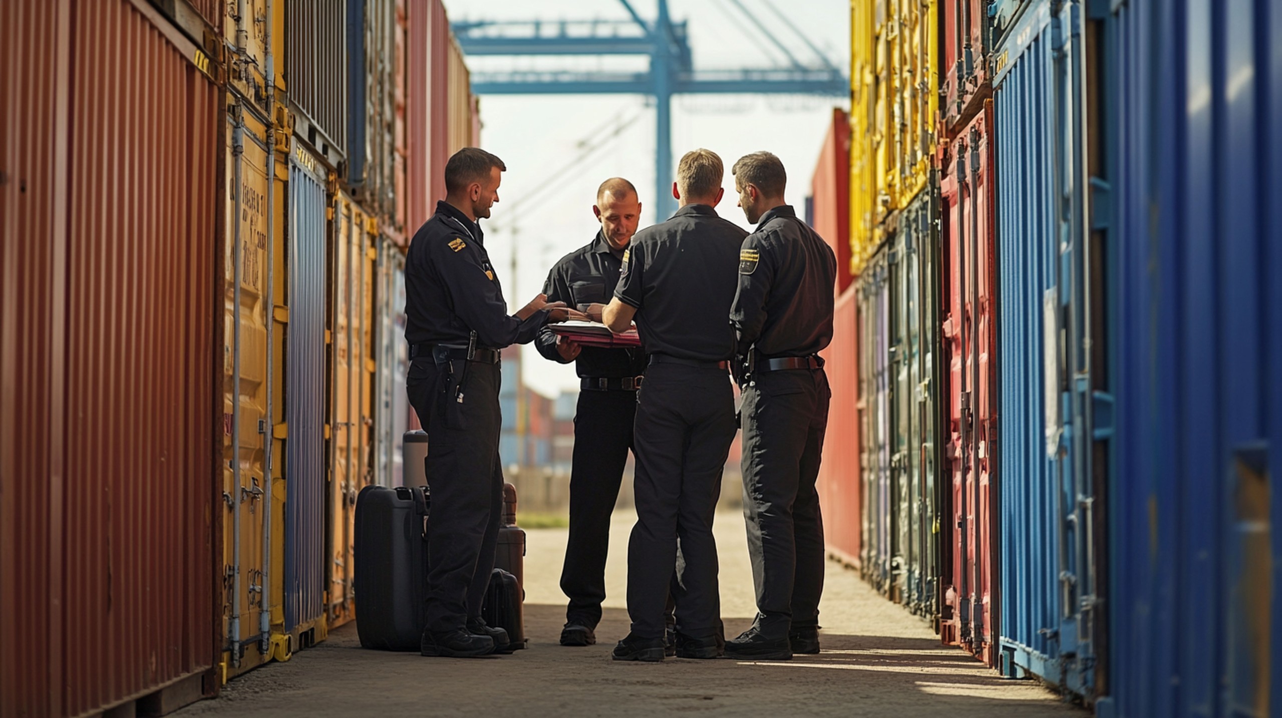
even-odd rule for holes
{"type": "Polygon", "coordinates": [[[850,244],[829,551],[1101,715],[1282,714],[1282,10],[855,0],[851,32],[812,209],[850,244]]]}

